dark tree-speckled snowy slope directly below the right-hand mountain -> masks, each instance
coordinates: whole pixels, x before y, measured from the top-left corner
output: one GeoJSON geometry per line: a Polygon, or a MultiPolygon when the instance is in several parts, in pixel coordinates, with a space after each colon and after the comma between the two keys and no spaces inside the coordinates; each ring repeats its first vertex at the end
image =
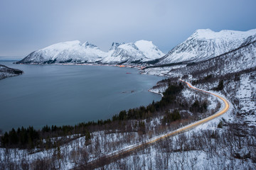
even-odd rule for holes
{"type": "Polygon", "coordinates": [[[208,74],[225,75],[256,67],[256,35],[250,36],[236,50],[203,62],[172,69],[172,74],[192,74],[205,77],[208,74]]]}

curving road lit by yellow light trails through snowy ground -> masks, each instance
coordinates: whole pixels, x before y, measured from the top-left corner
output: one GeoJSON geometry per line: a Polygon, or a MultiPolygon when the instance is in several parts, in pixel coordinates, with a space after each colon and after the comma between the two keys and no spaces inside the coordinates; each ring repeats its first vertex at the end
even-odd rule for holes
{"type": "MultiPolygon", "coordinates": [[[[180,79],[180,81],[183,81],[183,80],[180,79]]],[[[183,81],[183,82],[186,83],[188,85],[188,87],[190,87],[191,89],[202,91],[203,93],[210,94],[210,95],[213,95],[213,96],[215,96],[217,98],[220,98],[220,100],[223,102],[223,107],[220,109],[220,111],[218,111],[217,113],[215,113],[213,115],[210,115],[207,118],[203,118],[203,119],[198,120],[198,121],[196,121],[194,123],[191,123],[191,124],[188,124],[186,126],[183,126],[182,128],[178,128],[177,130],[173,130],[171,132],[167,132],[164,135],[159,135],[159,136],[156,136],[156,137],[152,137],[151,139],[146,140],[145,142],[140,142],[140,143],[138,143],[136,145],[132,145],[132,146],[127,147],[125,149],[122,149],[122,150],[120,150],[118,152],[113,152],[111,154],[106,155],[104,158],[105,159],[116,159],[117,157],[120,157],[123,154],[127,154],[129,152],[133,152],[134,150],[142,148],[142,147],[145,147],[146,145],[150,145],[150,144],[152,144],[154,142],[157,142],[159,140],[163,140],[163,139],[165,139],[167,137],[171,137],[171,136],[177,135],[178,133],[186,132],[188,130],[196,128],[198,125],[202,125],[203,123],[206,123],[206,122],[208,122],[210,120],[213,120],[214,118],[217,118],[218,116],[223,115],[224,113],[226,113],[229,110],[230,103],[225,98],[223,98],[221,96],[218,96],[217,94],[212,94],[212,93],[210,93],[208,91],[203,91],[201,89],[197,89],[196,87],[192,86],[191,84],[189,84],[186,81],[183,81]]],[[[88,164],[90,164],[90,166],[97,166],[96,165],[97,164],[97,160],[89,162],[88,164]]]]}

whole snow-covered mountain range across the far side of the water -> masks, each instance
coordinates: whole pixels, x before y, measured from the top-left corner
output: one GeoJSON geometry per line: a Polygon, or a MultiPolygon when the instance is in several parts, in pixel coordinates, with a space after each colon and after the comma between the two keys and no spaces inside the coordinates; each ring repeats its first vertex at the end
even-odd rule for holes
{"type": "Polygon", "coordinates": [[[129,43],[112,42],[112,47],[108,52],[103,52],[89,42],[80,43],[75,40],[60,42],[31,52],[16,64],[100,63],[166,67],[174,63],[201,62],[225,55],[246,44],[248,38],[255,35],[256,29],[222,30],[219,32],[199,29],[166,55],[147,40],[129,43]]]}

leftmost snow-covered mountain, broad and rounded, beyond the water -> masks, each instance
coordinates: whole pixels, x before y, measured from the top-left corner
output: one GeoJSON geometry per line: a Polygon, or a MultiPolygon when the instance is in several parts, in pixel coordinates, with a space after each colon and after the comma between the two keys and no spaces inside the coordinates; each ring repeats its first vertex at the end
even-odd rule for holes
{"type": "Polygon", "coordinates": [[[107,57],[107,52],[103,52],[96,45],[89,42],[83,44],[80,41],[60,42],[50,45],[41,50],[31,52],[19,63],[53,64],[65,62],[97,62],[107,57]]]}

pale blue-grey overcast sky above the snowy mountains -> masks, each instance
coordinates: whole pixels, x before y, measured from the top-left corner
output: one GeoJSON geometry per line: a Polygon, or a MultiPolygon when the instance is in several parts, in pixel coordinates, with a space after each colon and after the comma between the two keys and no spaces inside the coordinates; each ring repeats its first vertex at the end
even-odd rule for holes
{"type": "Polygon", "coordinates": [[[164,53],[196,29],[256,28],[255,0],[0,0],[0,56],[25,57],[69,40],[109,50],[112,42],[151,40],[164,53]]]}

